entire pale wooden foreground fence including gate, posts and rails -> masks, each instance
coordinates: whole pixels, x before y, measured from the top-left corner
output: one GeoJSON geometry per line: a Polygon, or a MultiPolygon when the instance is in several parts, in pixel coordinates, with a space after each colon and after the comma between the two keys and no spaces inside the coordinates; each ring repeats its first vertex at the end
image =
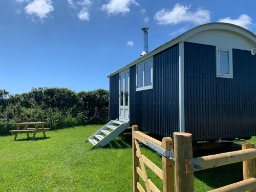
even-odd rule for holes
{"type": "Polygon", "coordinates": [[[147,178],[145,166],[163,180],[163,191],[174,191],[174,162],[175,162],[175,189],[176,192],[194,191],[194,172],[243,161],[244,180],[233,183],[210,192],[224,191],[251,191],[256,192],[254,143],[242,143],[242,150],[193,158],[192,140],[189,133],[174,133],[174,156],[172,152],[173,140],[165,137],[162,142],[138,131],[133,125],[133,186],[134,191],[145,191],[139,183],[139,177],[145,183],[146,191],[160,191],[147,178]],[[138,141],[149,146],[162,155],[162,170],[141,154],[138,141]],[[174,161],[173,161],[174,160],[174,161]],[[141,169],[139,168],[139,164],[141,169]]]}

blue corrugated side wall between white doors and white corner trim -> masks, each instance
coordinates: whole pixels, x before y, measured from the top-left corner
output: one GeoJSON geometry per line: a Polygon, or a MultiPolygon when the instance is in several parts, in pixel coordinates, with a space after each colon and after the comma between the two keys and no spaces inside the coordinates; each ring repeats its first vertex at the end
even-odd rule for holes
{"type": "Polygon", "coordinates": [[[179,130],[179,46],[154,56],[153,89],[136,92],[136,66],[130,68],[130,122],[162,136],[179,130]]]}

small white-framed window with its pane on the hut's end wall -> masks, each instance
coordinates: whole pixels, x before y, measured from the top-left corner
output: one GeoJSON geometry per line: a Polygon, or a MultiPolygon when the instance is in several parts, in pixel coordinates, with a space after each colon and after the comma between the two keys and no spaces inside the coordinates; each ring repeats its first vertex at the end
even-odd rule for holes
{"type": "Polygon", "coordinates": [[[217,77],[233,78],[232,49],[217,47],[217,77]]]}

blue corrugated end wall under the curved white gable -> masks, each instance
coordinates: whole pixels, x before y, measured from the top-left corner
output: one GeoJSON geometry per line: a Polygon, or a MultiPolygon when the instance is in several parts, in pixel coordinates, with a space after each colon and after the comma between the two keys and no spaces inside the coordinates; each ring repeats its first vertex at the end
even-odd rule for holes
{"type": "Polygon", "coordinates": [[[184,42],[185,131],[194,140],[256,134],[256,56],[232,52],[233,78],[217,78],[216,47],[184,42]]]}

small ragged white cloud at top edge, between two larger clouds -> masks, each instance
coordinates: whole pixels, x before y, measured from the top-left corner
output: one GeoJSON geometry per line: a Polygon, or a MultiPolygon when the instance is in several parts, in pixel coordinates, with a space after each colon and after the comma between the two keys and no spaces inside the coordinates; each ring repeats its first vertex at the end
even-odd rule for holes
{"type": "Polygon", "coordinates": [[[92,5],[91,0],[80,0],[76,2],[68,0],[68,4],[74,9],[80,9],[77,13],[77,17],[80,20],[90,20],[89,7],[92,5]]]}

